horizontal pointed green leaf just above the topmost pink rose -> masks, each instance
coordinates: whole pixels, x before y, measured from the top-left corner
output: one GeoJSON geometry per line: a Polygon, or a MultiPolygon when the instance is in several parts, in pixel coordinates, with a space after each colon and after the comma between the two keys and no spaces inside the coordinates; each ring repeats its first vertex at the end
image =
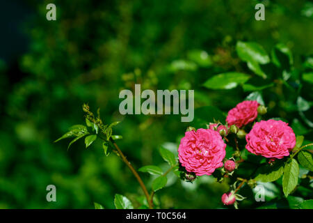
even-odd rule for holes
{"type": "Polygon", "coordinates": [[[207,89],[234,89],[239,84],[243,84],[249,79],[249,75],[242,72],[224,72],[215,75],[204,82],[207,89]]]}

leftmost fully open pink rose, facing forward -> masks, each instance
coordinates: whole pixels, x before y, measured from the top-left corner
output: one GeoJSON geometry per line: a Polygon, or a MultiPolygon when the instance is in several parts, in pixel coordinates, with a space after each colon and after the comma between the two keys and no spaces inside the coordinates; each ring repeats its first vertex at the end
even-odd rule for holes
{"type": "Polygon", "coordinates": [[[223,167],[225,147],[222,137],[214,130],[200,128],[186,132],[178,148],[179,162],[197,176],[211,175],[216,168],[223,167]]]}

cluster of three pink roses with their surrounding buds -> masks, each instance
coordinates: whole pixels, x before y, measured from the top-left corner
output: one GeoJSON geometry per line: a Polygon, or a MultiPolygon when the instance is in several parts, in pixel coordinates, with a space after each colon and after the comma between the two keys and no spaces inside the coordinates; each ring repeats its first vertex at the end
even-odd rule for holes
{"type": "MultiPolygon", "coordinates": [[[[211,175],[217,168],[223,167],[223,162],[225,164],[220,170],[221,174],[226,177],[232,176],[241,162],[236,161],[234,157],[241,157],[241,151],[235,139],[236,151],[233,157],[224,159],[226,153],[224,140],[229,141],[228,134],[235,134],[238,139],[246,139],[246,149],[255,155],[269,158],[270,164],[275,159],[288,156],[296,145],[296,136],[287,123],[269,119],[253,123],[252,128],[248,125],[255,121],[258,115],[262,116],[266,112],[266,107],[259,105],[257,101],[246,100],[228,112],[225,125],[218,121],[209,123],[207,129],[188,128],[178,148],[179,162],[188,171],[187,176],[191,173],[196,176],[211,175]],[[247,130],[250,132],[246,133],[247,130]]],[[[195,177],[192,178],[194,179],[195,177]]],[[[247,180],[243,180],[243,183],[245,182],[247,180]]],[[[233,186],[232,191],[223,194],[221,199],[225,205],[234,205],[236,208],[236,201],[244,199],[236,193],[241,185],[237,189],[233,186]]],[[[248,180],[248,185],[255,186],[255,180],[253,182],[248,180]]]]}

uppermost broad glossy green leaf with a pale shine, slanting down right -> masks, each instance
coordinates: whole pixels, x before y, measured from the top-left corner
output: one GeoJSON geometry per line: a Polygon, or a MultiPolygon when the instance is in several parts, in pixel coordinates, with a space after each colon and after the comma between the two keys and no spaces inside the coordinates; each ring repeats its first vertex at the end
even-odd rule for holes
{"type": "Polygon", "coordinates": [[[270,61],[266,51],[258,43],[239,41],[236,44],[236,52],[240,59],[246,62],[265,64],[270,61]]]}

